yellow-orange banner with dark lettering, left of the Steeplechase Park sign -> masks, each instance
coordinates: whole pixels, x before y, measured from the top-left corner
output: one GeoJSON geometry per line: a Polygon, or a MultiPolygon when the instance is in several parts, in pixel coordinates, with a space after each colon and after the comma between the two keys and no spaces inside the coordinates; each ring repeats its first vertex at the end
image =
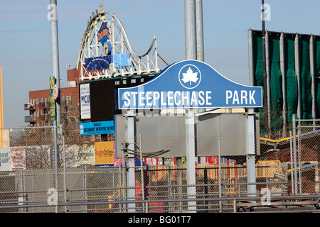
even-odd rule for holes
{"type": "Polygon", "coordinates": [[[114,164],[114,141],[95,142],[95,165],[114,164]]]}

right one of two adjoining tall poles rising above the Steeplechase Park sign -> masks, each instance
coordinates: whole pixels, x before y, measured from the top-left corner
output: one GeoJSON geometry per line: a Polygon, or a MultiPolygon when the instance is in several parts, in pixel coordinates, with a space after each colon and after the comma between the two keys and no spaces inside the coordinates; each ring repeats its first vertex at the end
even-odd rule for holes
{"type": "Polygon", "coordinates": [[[202,0],[196,0],[197,60],[204,62],[202,0]]]}

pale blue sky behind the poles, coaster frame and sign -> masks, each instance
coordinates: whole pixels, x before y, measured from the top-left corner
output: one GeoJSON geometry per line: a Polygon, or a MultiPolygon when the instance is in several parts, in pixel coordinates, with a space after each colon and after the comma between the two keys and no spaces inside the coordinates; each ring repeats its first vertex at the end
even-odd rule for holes
{"type": "MultiPolygon", "coordinates": [[[[58,0],[61,86],[65,66],[75,67],[87,21],[102,1],[58,0]]],[[[0,66],[3,68],[4,126],[27,126],[23,104],[28,92],[48,89],[51,68],[49,0],[0,0],[0,66]]],[[[132,48],[144,53],[154,36],[159,55],[168,63],[183,60],[183,0],[103,1],[116,13],[132,48]]],[[[319,0],[265,0],[270,5],[269,31],[320,35],[319,0]]],[[[205,62],[220,74],[248,84],[247,30],[262,29],[260,0],[203,0],[205,62]]],[[[162,65],[162,68],[165,65],[162,65]]]]}

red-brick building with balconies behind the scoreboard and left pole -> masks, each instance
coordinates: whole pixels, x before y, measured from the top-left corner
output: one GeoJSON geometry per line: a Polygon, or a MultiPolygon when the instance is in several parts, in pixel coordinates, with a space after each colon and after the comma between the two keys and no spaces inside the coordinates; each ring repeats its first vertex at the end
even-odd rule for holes
{"type": "MultiPolygon", "coordinates": [[[[68,87],[60,88],[61,123],[72,129],[78,128],[80,116],[79,75],[77,69],[68,70],[68,87]]],[[[24,121],[29,126],[51,125],[49,96],[49,89],[29,92],[28,103],[24,104],[24,110],[28,111],[24,121]]]]}

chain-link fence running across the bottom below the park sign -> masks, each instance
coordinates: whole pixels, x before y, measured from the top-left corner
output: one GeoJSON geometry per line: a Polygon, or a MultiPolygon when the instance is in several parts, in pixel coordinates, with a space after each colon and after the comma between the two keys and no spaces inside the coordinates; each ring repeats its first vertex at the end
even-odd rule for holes
{"type": "MultiPolygon", "coordinates": [[[[119,203],[142,199],[151,201],[147,204],[149,212],[186,212],[190,209],[232,212],[232,198],[261,196],[263,189],[269,189],[271,196],[319,194],[319,122],[297,121],[295,146],[294,136],[278,140],[260,138],[260,145],[255,144],[255,150],[259,149],[260,153],[255,155],[253,171],[248,167],[248,157],[229,153],[245,147],[243,135],[241,140],[235,135],[219,134],[211,140],[198,135],[194,143],[194,179],[188,179],[188,158],[166,157],[169,149],[159,150],[161,144],[173,143],[172,148],[186,153],[185,137],[159,137],[156,140],[137,137],[130,140],[133,141],[133,146],[129,147],[133,148],[131,152],[125,145],[119,147],[115,143],[114,166],[107,166],[88,164],[97,155],[95,143],[101,142],[101,138],[92,140],[66,129],[57,138],[58,157],[55,159],[53,131],[53,127],[1,128],[0,206],[66,205],[0,207],[0,212],[144,212],[146,204],[119,203]],[[231,144],[235,141],[238,141],[236,148],[231,144]],[[213,155],[198,157],[197,152],[201,149],[213,155]],[[85,150],[93,153],[85,157],[87,162],[82,157],[85,150]],[[55,170],[55,160],[58,170],[55,170]],[[188,190],[190,188],[193,190],[188,190]],[[174,200],[225,197],[230,197],[230,201],[190,203],[174,200]],[[159,199],[172,201],[156,201],[159,199]],[[100,201],[111,203],[101,204],[100,201]],[[73,202],[82,204],[68,206],[73,202]]],[[[107,140],[114,138],[110,136],[107,140]]]]}

